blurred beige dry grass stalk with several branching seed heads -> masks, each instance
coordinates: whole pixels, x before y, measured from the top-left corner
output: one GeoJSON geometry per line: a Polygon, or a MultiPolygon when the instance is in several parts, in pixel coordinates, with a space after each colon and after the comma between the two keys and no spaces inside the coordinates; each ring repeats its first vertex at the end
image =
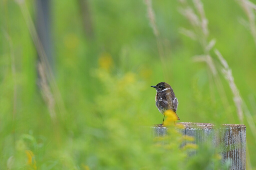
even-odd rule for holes
{"type": "MultiPolygon", "coordinates": [[[[209,53],[210,50],[214,47],[216,41],[213,39],[210,42],[208,42],[208,35],[209,35],[208,20],[205,16],[203,4],[200,0],[193,0],[193,4],[196,10],[195,12],[195,10],[188,5],[186,0],[180,0],[180,3],[182,4],[182,8],[179,9],[180,13],[188,19],[191,26],[193,27],[193,31],[182,29],[181,33],[187,35],[193,40],[197,40],[200,43],[202,50],[204,51],[204,54],[195,56],[194,61],[205,62],[207,64],[211,74],[213,75],[213,79],[217,86],[219,95],[221,96],[221,101],[223,103],[223,106],[226,109],[229,106],[227,95],[225,93],[222,82],[218,75],[216,66],[209,53]]],[[[211,77],[209,77],[209,83],[212,83],[211,77]]],[[[210,84],[210,87],[213,87],[213,85],[210,84]]],[[[213,99],[214,98],[214,92],[212,91],[213,88],[210,88],[210,90],[211,90],[211,97],[213,99]]]]}

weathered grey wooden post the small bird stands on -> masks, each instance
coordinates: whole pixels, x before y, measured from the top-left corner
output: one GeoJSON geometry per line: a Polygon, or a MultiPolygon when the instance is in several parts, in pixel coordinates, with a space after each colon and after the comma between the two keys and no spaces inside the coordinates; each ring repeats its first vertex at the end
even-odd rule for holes
{"type": "MultiPolygon", "coordinates": [[[[180,132],[195,138],[194,143],[201,145],[211,141],[213,147],[222,147],[222,163],[230,162],[230,169],[246,169],[246,126],[223,124],[216,126],[208,123],[182,122],[180,132]]],[[[167,133],[167,127],[156,125],[153,127],[155,136],[167,133]]],[[[190,142],[191,143],[191,142],[190,142]]],[[[185,141],[186,144],[186,141],[185,141]]]]}

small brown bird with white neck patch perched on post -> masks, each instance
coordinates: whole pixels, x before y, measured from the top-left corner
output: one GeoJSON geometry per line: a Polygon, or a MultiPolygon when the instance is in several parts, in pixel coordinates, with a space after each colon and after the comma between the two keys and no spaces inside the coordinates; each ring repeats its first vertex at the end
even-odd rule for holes
{"type": "MultiPolygon", "coordinates": [[[[151,86],[156,89],[156,107],[158,108],[159,112],[164,115],[166,110],[173,111],[176,116],[177,120],[180,120],[176,111],[178,108],[178,99],[176,98],[172,87],[166,82],[160,82],[156,86],[151,86]]],[[[164,115],[165,117],[165,115],[164,115]]],[[[164,124],[164,119],[163,123],[164,124]]]]}

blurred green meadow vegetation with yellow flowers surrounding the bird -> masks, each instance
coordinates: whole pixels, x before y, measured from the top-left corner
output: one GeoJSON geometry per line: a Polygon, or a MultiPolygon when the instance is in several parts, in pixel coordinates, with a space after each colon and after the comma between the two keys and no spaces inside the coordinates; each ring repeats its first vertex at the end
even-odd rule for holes
{"type": "MultiPolygon", "coordinates": [[[[255,122],[256,47],[250,30],[239,23],[247,17],[236,1],[202,2],[209,40],[216,39],[215,47],[232,69],[255,122]]],[[[25,4],[35,21],[35,2],[25,4]]],[[[150,86],[165,81],[173,87],[180,122],[239,124],[232,92],[217,67],[229,105],[222,105],[215,84],[211,97],[207,65],[192,61],[203,53],[200,44],[179,33],[179,28],[191,26],[179,13],[178,1],[152,5],[165,50],[166,78],[143,1],[90,0],[93,39],[82,27],[77,1],[51,1],[54,77],[63,102],[59,109],[55,100],[57,119],[52,120],[37,86],[37,51],[26,19],[16,1],[0,1],[1,169],[207,169],[210,163],[204,163],[215,160],[210,148],[213,160],[201,156],[193,164],[184,163],[186,152],[175,147],[153,147],[147,127],[161,123],[163,116],[150,86]],[[102,60],[109,64],[102,66],[102,60]]],[[[246,119],[244,124],[247,152],[256,169],[255,132],[246,119]]]]}

